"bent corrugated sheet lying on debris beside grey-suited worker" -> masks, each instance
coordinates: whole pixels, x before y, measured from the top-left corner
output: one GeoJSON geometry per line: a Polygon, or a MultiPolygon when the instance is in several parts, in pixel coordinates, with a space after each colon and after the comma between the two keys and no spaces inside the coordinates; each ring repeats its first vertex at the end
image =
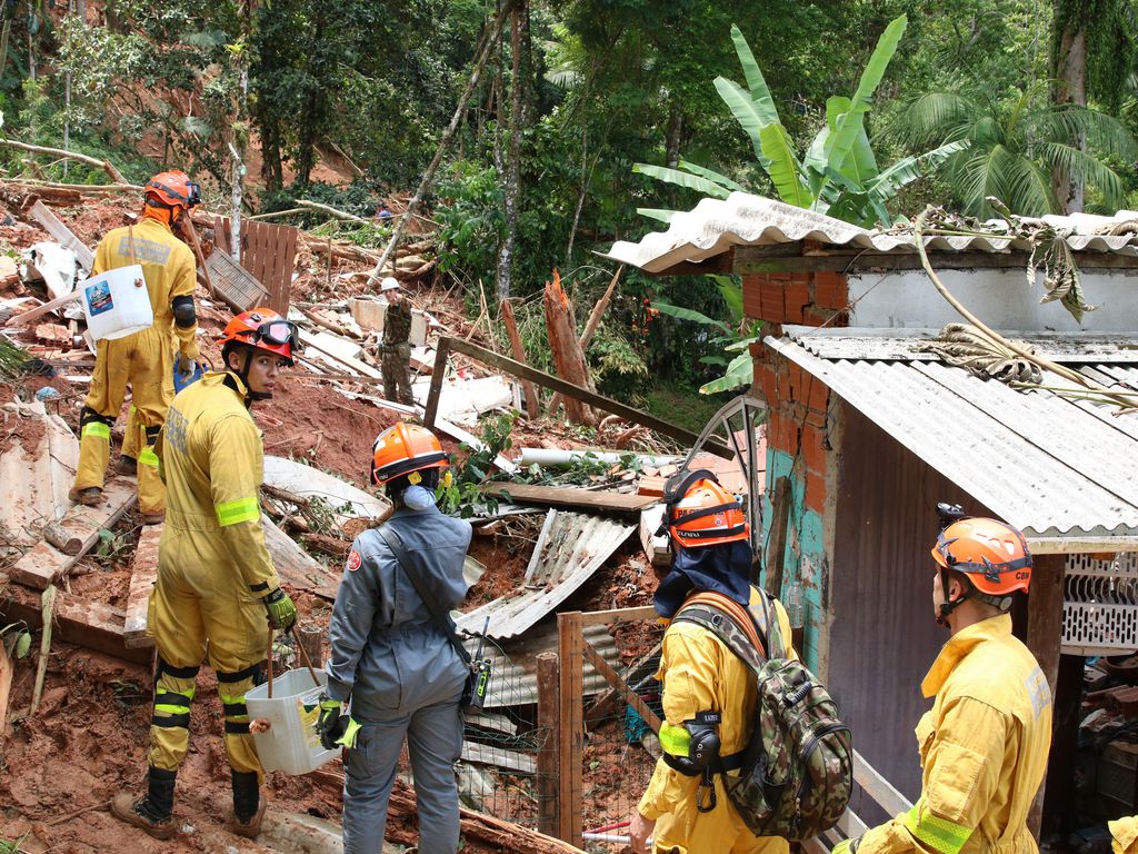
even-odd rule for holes
{"type": "Polygon", "coordinates": [[[526,569],[527,592],[487,602],[459,627],[480,632],[489,617],[490,638],[521,634],[588,581],[635,529],[607,516],[550,510],[526,569]]]}

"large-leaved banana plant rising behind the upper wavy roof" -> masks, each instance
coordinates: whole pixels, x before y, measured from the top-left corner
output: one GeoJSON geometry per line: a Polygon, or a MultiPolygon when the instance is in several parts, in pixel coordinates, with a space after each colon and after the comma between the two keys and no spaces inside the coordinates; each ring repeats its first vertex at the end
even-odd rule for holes
{"type": "MultiPolygon", "coordinates": [[[[801,158],[778,117],[774,97],[747,39],[737,26],[732,26],[731,34],[747,85],[719,76],[715,87],[750,138],[759,166],[783,202],[866,228],[879,222],[889,225],[891,216],[887,203],[890,199],[904,187],[968,147],[967,140],[955,140],[924,154],[905,157],[887,169],[877,165],[866,133],[865,117],[874,92],[897,52],[906,24],[902,15],[885,27],[852,97],[826,99],[826,123],[801,158]]],[[[714,198],[748,191],[740,182],[684,159],[679,161],[677,169],[637,163],[633,171],[714,198]]],[[[640,213],[666,222],[675,214],[674,211],[650,208],[642,208],[640,213]]]]}

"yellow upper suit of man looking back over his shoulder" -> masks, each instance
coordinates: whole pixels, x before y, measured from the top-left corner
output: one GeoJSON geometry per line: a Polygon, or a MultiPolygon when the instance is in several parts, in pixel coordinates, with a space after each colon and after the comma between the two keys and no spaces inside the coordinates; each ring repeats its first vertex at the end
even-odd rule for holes
{"type": "Polygon", "coordinates": [[[166,482],[160,553],[239,573],[261,598],[280,582],[261,527],[264,450],[246,394],[236,375],[209,371],[170,404],[156,449],[166,482]]]}

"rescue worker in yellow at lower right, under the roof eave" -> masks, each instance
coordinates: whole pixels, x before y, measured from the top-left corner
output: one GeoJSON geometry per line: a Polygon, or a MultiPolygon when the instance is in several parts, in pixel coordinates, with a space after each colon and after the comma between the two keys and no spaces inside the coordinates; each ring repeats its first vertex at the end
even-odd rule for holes
{"type": "Polygon", "coordinates": [[[1052,693],[1012,634],[1013,596],[1031,553],[1016,528],[940,504],[932,603],[951,633],[921,683],[921,797],[834,854],[1036,854],[1028,811],[1047,771],[1052,693]]]}

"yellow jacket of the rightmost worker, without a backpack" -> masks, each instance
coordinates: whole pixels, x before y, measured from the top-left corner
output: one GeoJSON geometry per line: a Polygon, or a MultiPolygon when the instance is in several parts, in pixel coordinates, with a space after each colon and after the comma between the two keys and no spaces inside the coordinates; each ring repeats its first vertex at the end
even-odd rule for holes
{"type": "Polygon", "coordinates": [[[1000,615],[955,634],[921,683],[921,797],[857,854],[1036,854],[1028,811],[1047,771],[1052,692],[1000,615]]]}

